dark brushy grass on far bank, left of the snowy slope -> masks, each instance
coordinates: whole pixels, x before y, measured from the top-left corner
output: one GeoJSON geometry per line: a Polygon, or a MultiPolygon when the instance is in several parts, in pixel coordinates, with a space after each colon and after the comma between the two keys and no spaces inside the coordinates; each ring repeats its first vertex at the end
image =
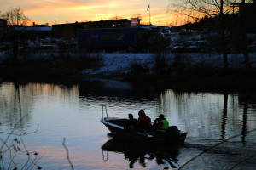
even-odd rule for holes
{"type": "Polygon", "coordinates": [[[30,53],[20,55],[19,59],[12,56],[2,60],[1,72],[4,75],[26,76],[70,76],[84,69],[103,65],[101,54],[79,53],[30,53]]]}

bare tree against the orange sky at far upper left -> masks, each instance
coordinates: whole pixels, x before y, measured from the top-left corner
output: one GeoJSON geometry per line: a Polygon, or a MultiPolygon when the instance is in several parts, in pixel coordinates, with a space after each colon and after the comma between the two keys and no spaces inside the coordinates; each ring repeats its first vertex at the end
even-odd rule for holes
{"type": "Polygon", "coordinates": [[[3,13],[1,18],[7,20],[8,24],[12,26],[25,26],[30,20],[26,15],[24,15],[24,11],[20,7],[11,8],[8,12],[3,13]]]}

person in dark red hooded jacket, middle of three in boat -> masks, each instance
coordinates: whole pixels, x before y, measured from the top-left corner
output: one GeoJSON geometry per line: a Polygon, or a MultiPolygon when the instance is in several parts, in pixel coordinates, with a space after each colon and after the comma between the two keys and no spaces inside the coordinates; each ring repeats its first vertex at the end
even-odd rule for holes
{"type": "Polygon", "coordinates": [[[147,133],[152,128],[151,119],[148,116],[146,116],[143,110],[140,110],[138,112],[138,116],[139,116],[139,118],[137,119],[138,131],[147,133]]]}

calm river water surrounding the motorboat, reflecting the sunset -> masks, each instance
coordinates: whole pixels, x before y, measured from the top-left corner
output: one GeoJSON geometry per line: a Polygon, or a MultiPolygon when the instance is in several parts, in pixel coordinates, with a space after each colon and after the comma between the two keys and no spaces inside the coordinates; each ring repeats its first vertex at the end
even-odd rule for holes
{"type": "Polygon", "coordinates": [[[117,81],[0,83],[0,169],[254,169],[256,94],[175,92],[117,81]],[[144,109],[188,132],[178,148],[114,139],[101,122],[144,109]],[[12,133],[12,134],[9,134],[12,133]],[[71,163],[67,159],[68,157],[71,163]],[[16,150],[16,151],[15,151],[16,150]],[[29,154],[27,154],[29,152],[29,154]]]}

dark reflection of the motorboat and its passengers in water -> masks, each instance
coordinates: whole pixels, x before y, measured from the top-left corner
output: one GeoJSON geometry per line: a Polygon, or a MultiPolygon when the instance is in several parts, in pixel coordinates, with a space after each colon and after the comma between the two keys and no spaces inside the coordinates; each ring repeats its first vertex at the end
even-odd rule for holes
{"type": "MultiPolygon", "coordinates": [[[[110,135],[111,133],[108,133],[108,136],[110,135]]],[[[179,151],[177,146],[145,146],[131,144],[113,137],[102,145],[103,161],[108,161],[108,153],[105,156],[104,151],[123,153],[125,160],[130,161],[130,168],[133,168],[137,162],[141,167],[147,167],[148,161],[155,161],[158,165],[164,165],[165,168],[178,167],[177,156],[179,151]]]]}

